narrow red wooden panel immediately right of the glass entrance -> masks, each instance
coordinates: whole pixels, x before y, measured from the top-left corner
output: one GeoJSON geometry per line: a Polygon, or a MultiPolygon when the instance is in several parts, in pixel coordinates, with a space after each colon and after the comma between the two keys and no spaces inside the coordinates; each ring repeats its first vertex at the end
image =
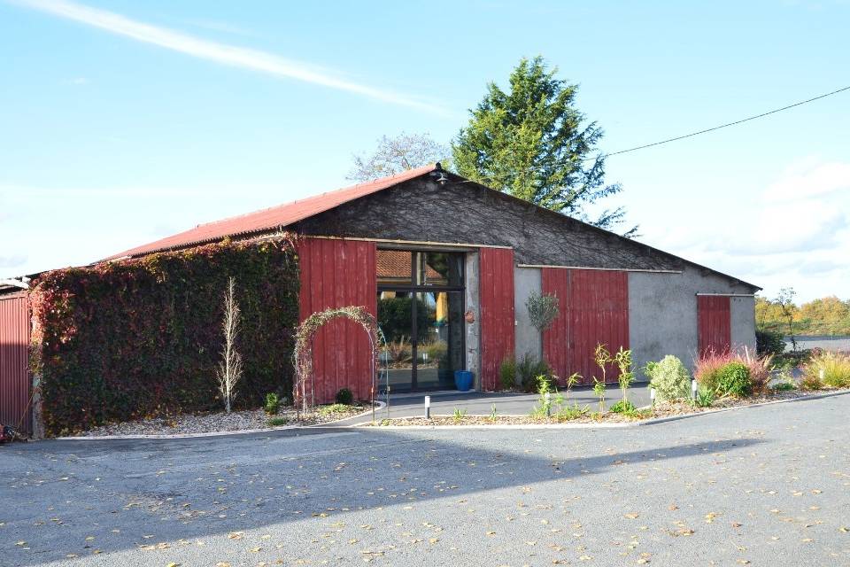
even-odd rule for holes
{"type": "Polygon", "coordinates": [[[514,251],[482,248],[479,271],[481,387],[497,390],[499,364],[514,353],[514,251]]]}

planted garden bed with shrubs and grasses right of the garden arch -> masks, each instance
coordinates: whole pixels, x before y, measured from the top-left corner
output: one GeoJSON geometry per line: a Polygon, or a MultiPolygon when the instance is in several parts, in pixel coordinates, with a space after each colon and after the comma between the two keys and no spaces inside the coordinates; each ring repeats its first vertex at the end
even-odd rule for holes
{"type": "MultiPolygon", "coordinates": [[[[486,416],[468,416],[460,408],[452,416],[399,417],[382,419],[378,426],[413,425],[539,425],[556,423],[630,423],[665,417],[686,416],[718,409],[738,408],[773,401],[793,400],[816,392],[850,391],[850,355],[842,353],[816,353],[800,371],[798,380],[787,370],[776,369],[771,357],[754,356],[748,349],[733,353],[723,351],[704,353],[696,361],[693,381],[691,373],[675,356],[666,356],[661,361],[649,362],[643,372],[650,379],[653,404],[646,408],[635,408],[628,400],[627,392],[634,378],[631,352],[622,348],[609,353],[607,347],[599,345],[594,353],[602,380],[592,377],[593,393],[599,403],[580,407],[570,399],[571,387],[578,383],[574,374],[566,378],[566,389],[559,391],[558,377],[551,373],[536,377],[537,405],[527,416],[498,414],[493,404],[486,416]],[[621,395],[609,408],[607,384],[604,379],[607,365],[614,364],[618,371],[617,381],[621,395]]],[[[503,364],[503,369],[506,368],[503,364]]],[[[513,378],[513,369],[504,374],[513,378]]],[[[510,382],[510,380],[505,380],[510,382]]]]}

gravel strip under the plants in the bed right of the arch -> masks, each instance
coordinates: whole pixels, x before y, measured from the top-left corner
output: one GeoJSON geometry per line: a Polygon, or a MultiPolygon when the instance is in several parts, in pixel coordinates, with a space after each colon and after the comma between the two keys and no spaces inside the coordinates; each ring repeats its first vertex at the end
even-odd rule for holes
{"type": "MultiPolygon", "coordinates": [[[[808,390],[785,390],[781,392],[765,392],[755,395],[751,398],[723,398],[715,400],[708,408],[697,408],[686,402],[661,402],[655,404],[652,409],[647,408],[644,411],[638,411],[636,414],[625,416],[614,412],[605,412],[599,415],[594,410],[597,409],[594,405],[588,406],[587,413],[583,416],[573,419],[557,419],[555,417],[533,417],[533,416],[496,416],[492,419],[491,416],[463,416],[455,418],[454,416],[431,416],[431,419],[424,417],[396,417],[393,419],[383,419],[375,423],[376,426],[385,425],[419,425],[423,427],[431,427],[435,425],[529,425],[529,424],[553,424],[553,423],[627,423],[642,421],[646,419],[654,419],[658,417],[684,416],[688,414],[699,414],[707,411],[723,408],[738,408],[743,406],[752,406],[753,404],[761,404],[769,401],[793,400],[803,396],[821,392],[839,392],[846,388],[824,389],[819,391],[808,390]]],[[[554,408],[553,408],[554,411],[554,408]]],[[[372,423],[366,423],[364,426],[372,426],[372,423]]]]}

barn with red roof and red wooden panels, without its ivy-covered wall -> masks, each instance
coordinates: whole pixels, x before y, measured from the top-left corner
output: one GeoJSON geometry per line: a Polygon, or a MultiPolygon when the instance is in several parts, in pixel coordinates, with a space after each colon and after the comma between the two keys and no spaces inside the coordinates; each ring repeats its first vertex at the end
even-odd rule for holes
{"type": "MultiPolygon", "coordinates": [[[[459,369],[472,371],[476,389],[495,390],[499,364],[512,354],[542,356],[558,376],[577,372],[587,382],[599,374],[598,343],[631,349],[636,367],[667,354],[692,364],[707,348],[755,344],[757,286],[439,164],[202,224],[105,260],[283,231],[303,237],[302,319],[327,307],[367,307],[389,345],[383,356],[395,392],[452,388],[459,369]],[[535,292],[559,299],[560,315],[543,333],[525,307],[535,292]]],[[[0,421],[7,423],[27,392],[22,298],[15,287],[0,289],[0,421]]],[[[316,339],[321,401],[341,387],[369,396],[367,338],[353,325],[332,322],[316,339]]]]}

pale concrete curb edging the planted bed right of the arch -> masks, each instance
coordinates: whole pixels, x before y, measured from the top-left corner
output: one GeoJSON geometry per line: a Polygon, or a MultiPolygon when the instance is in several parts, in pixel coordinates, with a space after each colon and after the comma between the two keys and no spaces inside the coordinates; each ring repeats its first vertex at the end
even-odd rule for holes
{"type": "MultiPolygon", "coordinates": [[[[529,430],[545,430],[545,429],[622,429],[626,427],[643,427],[646,425],[654,425],[656,423],[668,423],[668,422],[676,422],[683,419],[690,419],[692,417],[699,416],[711,416],[714,414],[720,414],[727,411],[735,411],[738,409],[748,409],[748,408],[761,408],[762,406],[773,406],[775,404],[784,404],[792,401],[803,401],[803,400],[819,400],[821,398],[834,398],[836,396],[844,396],[850,394],[850,390],[842,390],[839,392],[822,392],[822,393],[813,393],[805,396],[800,396],[799,398],[790,398],[788,400],[773,400],[773,401],[762,401],[757,404],[749,404],[746,406],[736,406],[734,408],[717,408],[717,409],[709,409],[707,411],[694,412],[692,414],[682,414],[681,416],[667,416],[667,417],[655,417],[653,419],[645,419],[645,420],[635,420],[633,422],[616,422],[616,423],[522,423],[518,425],[367,425],[365,423],[359,423],[356,425],[348,425],[347,427],[351,428],[364,428],[364,427],[374,427],[376,430],[435,430],[435,429],[446,429],[446,430],[455,430],[455,429],[476,429],[476,430],[489,430],[489,429],[529,429],[529,430]]],[[[451,416],[447,416],[451,417],[451,416]]],[[[479,416],[480,417],[480,416],[479,416]]],[[[507,416],[507,417],[516,417],[516,416],[507,416]]],[[[403,419],[403,418],[402,418],[403,419]]]]}

